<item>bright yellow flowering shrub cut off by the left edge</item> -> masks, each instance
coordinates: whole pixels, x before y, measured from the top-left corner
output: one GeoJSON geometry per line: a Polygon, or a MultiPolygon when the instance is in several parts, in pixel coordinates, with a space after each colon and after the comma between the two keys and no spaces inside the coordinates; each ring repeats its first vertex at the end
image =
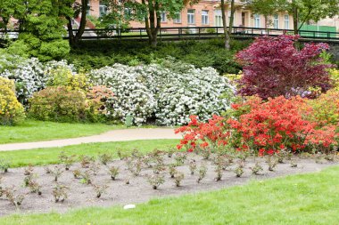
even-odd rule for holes
{"type": "Polygon", "coordinates": [[[15,96],[14,82],[0,77],[0,125],[15,125],[25,118],[25,111],[15,96]]]}

